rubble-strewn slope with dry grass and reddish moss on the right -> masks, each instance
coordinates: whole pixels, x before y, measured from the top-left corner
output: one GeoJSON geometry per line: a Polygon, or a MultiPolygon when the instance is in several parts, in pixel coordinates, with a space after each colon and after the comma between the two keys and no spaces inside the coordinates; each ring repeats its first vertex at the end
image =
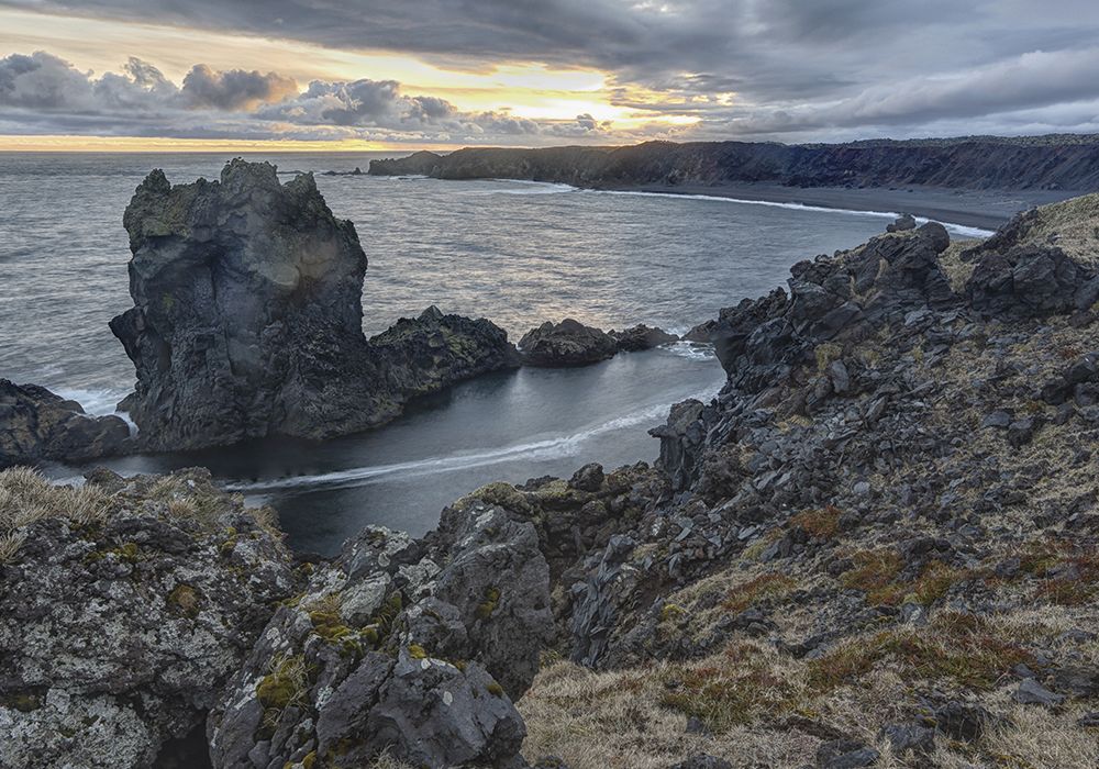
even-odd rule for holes
{"type": "Polygon", "coordinates": [[[1090,205],[973,249],[970,289],[993,255],[1063,259],[995,312],[947,285],[959,248],[936,225],[800,263],[788,291],[723,310],[706,333],[726,384],[654,431],[664,483],[636,484],[610,536],[554,570],[573,661],[520,702],[539,750],[1042,765],[1073,745],[1066,765],[1094,765],[1099,313],[1061,277],[1099,257],[1090,205]]]}

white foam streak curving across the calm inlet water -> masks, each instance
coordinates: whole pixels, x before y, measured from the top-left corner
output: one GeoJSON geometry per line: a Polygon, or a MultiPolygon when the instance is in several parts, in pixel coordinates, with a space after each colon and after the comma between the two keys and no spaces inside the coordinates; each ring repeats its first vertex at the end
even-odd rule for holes
{"type": "MultiPolygon", "coordinates": [[[[707,389],[702,392],[687,395],[687,398],[703,400],[712,397],[712,390],[707,389]]],[[[454,472],[457,470],[468,470],[475,467],[499,465],[515,459],[558,459],[578,455],[581,452],[585,442],[599,435],[618,430],[624,430],[626,427],[635,427],[641,424],[653,422],[654,420],[659,420],[667,415],[668,409],[668,403],[658,403],[656,405],[609,420],[571,435],[562,435],[531,443],[501,446],[498,448],[489,448],[467,454],[428,457],[424,459],[393,462],[390,465],[371,465],[366,467],[354,467],[346,470],[336,470],[333,472],[293,476],[291,478],[278,478],[249,482],[230,481],[224,484],[224,488],[229,491],[240,491],[251,494],[280,490],[311,490],[319,487],[340,489],[355,486],[366,486],[387,476],[398,473],[404,478],[414,478],[443,472],[454,472]]]]}

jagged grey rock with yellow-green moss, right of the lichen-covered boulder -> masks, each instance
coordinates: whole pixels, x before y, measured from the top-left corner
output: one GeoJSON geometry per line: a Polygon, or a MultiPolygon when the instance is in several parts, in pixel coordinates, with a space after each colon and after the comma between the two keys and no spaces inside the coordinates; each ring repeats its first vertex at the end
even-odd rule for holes
{"type": "Polygon", "coordinates": [[[533,525],[471,501],[424,540],[370,527],[280,608],[213,710],[217,767],[382,750],[415,766],[511,766],[512,705],[552,635],[533,525]]]}

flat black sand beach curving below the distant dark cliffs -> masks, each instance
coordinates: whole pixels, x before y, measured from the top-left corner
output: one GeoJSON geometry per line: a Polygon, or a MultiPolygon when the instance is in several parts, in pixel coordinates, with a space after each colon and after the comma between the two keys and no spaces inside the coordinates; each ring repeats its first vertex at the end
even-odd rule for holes
{"type": "Polygon", "coordinates": [[[721,186],[691,185],[622,185],[606,189],[640,192],[674,192],[678,194],[711,194],[742,200],[766,200],[775,203],[801,203],[848,211],[893,211],[917,216],[996,230],[1012,215],[1034,205],[1053,203],[1086,194],[1091,190],[952,190],[940,187],[904,187],[896,189],[843,187],[784,187],[781,185],[743,183],[721,186]]]}

